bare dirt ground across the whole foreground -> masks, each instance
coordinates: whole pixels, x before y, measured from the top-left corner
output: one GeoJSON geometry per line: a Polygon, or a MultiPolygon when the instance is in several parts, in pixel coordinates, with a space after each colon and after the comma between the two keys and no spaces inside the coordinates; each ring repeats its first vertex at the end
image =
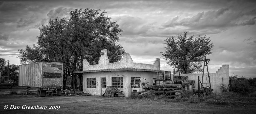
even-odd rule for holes
{"type": "MultiPolygon", "coordinates": [[[[15,89],[15,88],[14,88],[15,89]]],[[[20,90],[20,89],[17,89],[20,90]]],[[[35,89],[36,90],[36,89],[35,89]]],[[[10,91],[10,90],[9,90],[10,91]]],[[[0,93],[8,90],[0,88],[0,93]]],[[[34,107],[33,107],[34,108],[34,107]]],[[[255,105],[228,106],[213,104],[183,104],[180,102],[158,102],[129,97],[100,96],[52,96],[1,95],[0,113],[256,113],[255,105]],[[7,106],[8,107],[7,107],[7,106]],[[38,109],[22,109],[35,106],[38,109]],[[44,107],[43,107],[44,106],[44,107]],[[47,107],[45,107],[47,106],[47,107]],[[19,107],[19,109],[18,109],[19,107]],[[39,109],[39,108],[43,109],[39,109]],[[6,109],[4,109],[6,108],[6,109]],[[15,109],[16,108],[16,109],[15,109]],[[45,110],[44,110],[45,108],[45,110]],[[54,109],[50,109],[54,108],[54,109]],[[57,110],[58,109],[58,110],[57,110]]]]}

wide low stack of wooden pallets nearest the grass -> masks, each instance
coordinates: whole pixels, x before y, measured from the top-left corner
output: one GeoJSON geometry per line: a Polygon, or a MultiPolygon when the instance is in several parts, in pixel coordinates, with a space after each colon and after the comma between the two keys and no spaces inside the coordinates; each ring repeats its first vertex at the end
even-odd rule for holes
{"type": "Polygon", "coordinates": [[[182,95],[181,84],[163,84],[145,86],[145,91],[154,91],[156,96],[174,99],[182,95]]]}

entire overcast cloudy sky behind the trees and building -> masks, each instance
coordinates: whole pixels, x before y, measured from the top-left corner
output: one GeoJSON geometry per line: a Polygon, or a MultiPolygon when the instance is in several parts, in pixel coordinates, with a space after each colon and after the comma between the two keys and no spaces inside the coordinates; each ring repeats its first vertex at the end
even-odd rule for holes
{"type": "MultiPolygon", "coordinates": [[[[41,24],[68,17],[76,8],[105,10],[123,32],[120,44],[134,62],[152,64],[164,40],[179,33],[206,35],[213,47],[210,73],[229,64],[229,75],[256,77],[256,2],[254,0],[0,0],[0,58],[20,64],[18,49],[33,45],[41,24]]],[[[160,58],[160,70],[172,67],[160,58]]]]}

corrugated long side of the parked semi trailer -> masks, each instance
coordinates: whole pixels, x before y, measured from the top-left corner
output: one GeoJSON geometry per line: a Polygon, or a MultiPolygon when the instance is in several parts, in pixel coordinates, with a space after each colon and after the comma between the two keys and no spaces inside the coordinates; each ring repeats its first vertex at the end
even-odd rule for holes
{"type": "Polygon", "coordinates": [[[19,86],[42,86],[42,62],[19,65],[19,86]]]}

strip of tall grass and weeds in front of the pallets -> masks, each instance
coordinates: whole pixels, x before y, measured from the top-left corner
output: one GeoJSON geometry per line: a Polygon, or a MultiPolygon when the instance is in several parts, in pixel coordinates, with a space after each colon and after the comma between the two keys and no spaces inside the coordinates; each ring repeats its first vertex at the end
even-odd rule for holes
{"type": "MultiPolygon", "coordinates": [[[[256,96],[256,93],[251,96],[256,96]]],[[[133,96],[135,99],[141,99],[146,101],[156,101],[156,102],[180,102],[180,103],[205,103],[205,104],[235,104],[235,105],[243,105],[244,101],[250,101],[248,96],[244,96],[238,93],[233,92],[224,92],[221,94],[212,93],[210,95],[198,95],[192,93],[183,93],[182,97],[176,97],[175,99],[170,99],[167,97],[156,96],[154,92],[150,92],[145,96],[133,96]],[[239,101],[239,102],[237,102],[239,101]]],[[[249,104],[256,104],[256,98],[253,101],[250,101],[249,104]]]]}

